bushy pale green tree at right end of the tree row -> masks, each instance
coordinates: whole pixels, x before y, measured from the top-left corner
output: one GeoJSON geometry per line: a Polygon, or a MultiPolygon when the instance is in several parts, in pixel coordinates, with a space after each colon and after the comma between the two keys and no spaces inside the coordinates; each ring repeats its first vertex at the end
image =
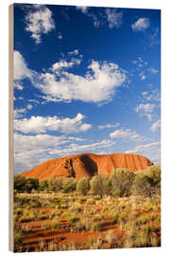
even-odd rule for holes
{"type": "Polygon", "coordinates": [[[144,171],[136,172],[132,192],[143,196],[153,196],[161,192],[161,167],[149,166],[144,171]]]}

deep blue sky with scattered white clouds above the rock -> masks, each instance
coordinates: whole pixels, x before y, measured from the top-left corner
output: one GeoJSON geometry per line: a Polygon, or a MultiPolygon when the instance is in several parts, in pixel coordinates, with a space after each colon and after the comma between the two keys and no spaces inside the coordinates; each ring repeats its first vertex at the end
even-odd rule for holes
{"type": "Polygon", "coordinates": [[[90,152],[161,163],[161,11],[14,5],[14,173],[90,152]]]}

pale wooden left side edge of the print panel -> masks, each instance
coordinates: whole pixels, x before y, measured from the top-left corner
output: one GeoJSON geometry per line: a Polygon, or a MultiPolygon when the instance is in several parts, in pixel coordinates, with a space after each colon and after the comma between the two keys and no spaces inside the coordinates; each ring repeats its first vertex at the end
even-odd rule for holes
{"type": "Polygon", "coordinates": [[[13,251],[13,5],[8,7],[8,249],[13,251]]]}

